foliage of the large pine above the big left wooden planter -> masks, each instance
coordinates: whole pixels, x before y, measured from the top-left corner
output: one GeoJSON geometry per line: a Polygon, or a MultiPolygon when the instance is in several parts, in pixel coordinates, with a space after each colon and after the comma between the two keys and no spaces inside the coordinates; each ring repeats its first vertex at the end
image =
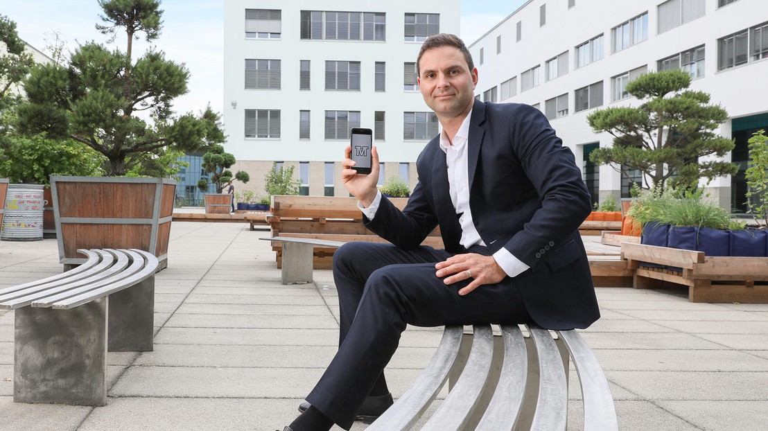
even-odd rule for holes
{"type": "MultiPolygon", "coordinates": [[[[113,37],[125,31],[125,51],[94,41],[79,46],[68,66],[41,65],[25,81],[28,103],[18,110],[19,127],[30,134],[71,138],[87,144],[108,159],[109,175],[157,174],[157,164],[143,161],[169,150],[200,151],[224,141],[220,115],[210,109],[174,117],[172,101],[187,93],[189,71],[150,49],[134,60],[134,38],[147,41],[160,35],[163,11],[159,0],[99,0],[103,25],[113,37]],[[143,114],[143,118],[140,114],[143,114]],[[145,121],[144,118],[151,118],[145,121]]],[[[171,174],[165,165],[162,174],[171,174]]],[[[165,175],[163,175],[165,176],[165,175]]]]}

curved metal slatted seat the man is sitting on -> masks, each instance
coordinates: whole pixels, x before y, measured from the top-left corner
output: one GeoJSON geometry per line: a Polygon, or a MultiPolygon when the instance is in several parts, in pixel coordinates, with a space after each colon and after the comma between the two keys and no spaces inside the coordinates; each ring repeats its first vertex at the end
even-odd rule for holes
{"type": "Polygon", "coordinates": [[[472,334],[445,327],[435,355],[419,378],[369,431],[411,429],[424,415],[446,380],[449,395],[429,417],[423,431],[477,429],[566,429],[568,360],[581,384],[584,430],[618,429],[611,390],[594,353],[574,330],[556,331],[555,341],[540,327],[490,325],[472,334]]]}

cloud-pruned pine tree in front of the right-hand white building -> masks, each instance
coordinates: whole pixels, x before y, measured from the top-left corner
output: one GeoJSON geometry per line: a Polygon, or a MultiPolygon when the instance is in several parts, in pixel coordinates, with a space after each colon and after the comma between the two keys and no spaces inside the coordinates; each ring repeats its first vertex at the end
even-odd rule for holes
{"type": "Polygon", "coordinates": [[[710,95],[690,91],[684,71],[659,71],[641,75],[627,84],[627,92],[643,104],[594,111],[587,118],[595,132],[614,136],[611,148],[590,154],[597,164],[621,165],[643,172],[652,187],[697,187],[699,178],[712,180],[736,174],[736,164],[704,160],[733,150],[732,140],[714,131],[728,118],[725,109],[709,104],[710,95]]]}

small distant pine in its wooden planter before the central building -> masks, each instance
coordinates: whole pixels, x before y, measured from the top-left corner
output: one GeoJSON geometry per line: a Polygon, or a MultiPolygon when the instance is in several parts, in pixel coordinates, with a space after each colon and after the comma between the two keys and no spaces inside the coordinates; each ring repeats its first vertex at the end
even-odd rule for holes
{"type": "MultiPolygon", "coordinates": [[[[205,194],[205,213],[206,214],[230,214],[230,209],[234,207],[234,195],[223,193],[224,187],[230,184],[230,181],[236,179],[242,183],[250,181],[250,175],[245,171],[237,171],[232,175],[229,170],[235,164],[235,156],[224,151],[221,145],[214,145],[206,154],[203,154],[203,170],[210,174],[210,184],[216,187],[216,193],[205,194]]],[[[207,178],[200,178],[197,181],[197,188],[202,192],[208,191],[207,178]]]]}

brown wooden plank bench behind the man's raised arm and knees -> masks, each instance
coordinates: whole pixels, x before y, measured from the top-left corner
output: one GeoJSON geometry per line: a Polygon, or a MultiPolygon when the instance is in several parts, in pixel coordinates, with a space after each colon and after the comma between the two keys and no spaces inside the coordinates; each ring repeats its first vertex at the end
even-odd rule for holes
{"type": "MultiPolygon", "coordinates": [[[[406,207],[408,199],[389,198],[400,209],[406,207]]],[[[272,197],[272,215],[266,222],[272,228],[273,237],[296,237],[308,240],[329,240],[341,243],[351,241],[386,242],[362,224],[362,212],[354,197],[286,196],[272,197]]],[[[442,248],[440,230],[436,228],[424,242],[435,248],[442,248]]],[[[283,243],[273,242],[277,267],[283,265],[283,243]]],[[[313,248],[314,269],[329,269],[337,247],[317,244],[313,248]]]]}

